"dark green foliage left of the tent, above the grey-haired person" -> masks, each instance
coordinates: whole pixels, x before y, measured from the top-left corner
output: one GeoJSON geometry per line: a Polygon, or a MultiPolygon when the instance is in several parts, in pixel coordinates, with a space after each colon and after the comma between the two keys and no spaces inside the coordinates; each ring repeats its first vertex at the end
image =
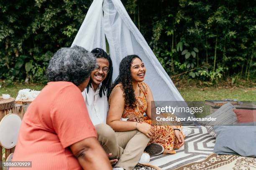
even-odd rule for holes
{"type": "Polygon", "coordinates": [[[91,2],[0,1],[0,79],[44,82],[53,53],[72,44],[91,2]]]}

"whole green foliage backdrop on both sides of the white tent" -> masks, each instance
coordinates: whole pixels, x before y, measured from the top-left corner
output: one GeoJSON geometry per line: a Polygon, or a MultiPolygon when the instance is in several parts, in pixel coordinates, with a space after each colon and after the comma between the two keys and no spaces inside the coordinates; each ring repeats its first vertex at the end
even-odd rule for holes
{"type": "MultiPolygon", "coordinates": [[[[91,2],[1,0],[0,80],[45,83],[50,58],[72,44],[91,2]]],[[[171,78],[255,82],[255,0],[122,2],[171,78]]]]}

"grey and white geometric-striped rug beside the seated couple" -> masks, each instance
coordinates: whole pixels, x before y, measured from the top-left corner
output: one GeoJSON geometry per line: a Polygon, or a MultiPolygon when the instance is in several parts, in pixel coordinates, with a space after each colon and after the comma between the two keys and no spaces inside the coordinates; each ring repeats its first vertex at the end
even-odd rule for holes
{"type": "Polygon", "coordinates": [[[157,155],[151,157],[149,163],[163,170],[172,170],[188,163],[205,160],[208,155],[212,154],[215,138],[207,133],[207,129],[187,127],[192,129],[192,134],[185,138],[184,146],[176,150],[176,154],[157,155]]]}

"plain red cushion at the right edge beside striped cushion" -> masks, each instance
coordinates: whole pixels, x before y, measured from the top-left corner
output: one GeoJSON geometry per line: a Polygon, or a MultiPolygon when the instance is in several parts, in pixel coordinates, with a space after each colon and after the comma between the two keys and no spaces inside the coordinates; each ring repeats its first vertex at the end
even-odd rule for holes
{"type": "Polygon", "coordinates": [[[256,122],[256,110],[235,109],[238,122],[256,122]]]}

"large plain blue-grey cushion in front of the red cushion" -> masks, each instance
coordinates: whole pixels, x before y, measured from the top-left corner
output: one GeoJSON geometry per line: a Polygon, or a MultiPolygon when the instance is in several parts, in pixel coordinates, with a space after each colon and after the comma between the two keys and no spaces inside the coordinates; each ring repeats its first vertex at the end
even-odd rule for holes
{"type": "Polygon", "coordinates": [[[214,130],[217,135],[213,152],[220,155],[256,157],[255,126],[214,126],[214,130]]]}

